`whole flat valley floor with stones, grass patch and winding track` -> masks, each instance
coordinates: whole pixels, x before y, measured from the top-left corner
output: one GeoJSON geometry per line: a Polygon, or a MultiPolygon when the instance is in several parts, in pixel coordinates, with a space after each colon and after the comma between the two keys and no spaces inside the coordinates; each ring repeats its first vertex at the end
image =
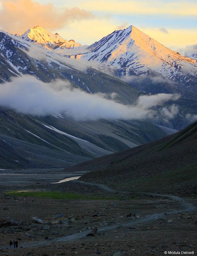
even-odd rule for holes
{"type": "Polygon", "coordinates": [[[196,255],[195,195],[178,195],[180,201],[124,187],[54,183],[84,173],[1,171],[0,255],[196,255]]]}

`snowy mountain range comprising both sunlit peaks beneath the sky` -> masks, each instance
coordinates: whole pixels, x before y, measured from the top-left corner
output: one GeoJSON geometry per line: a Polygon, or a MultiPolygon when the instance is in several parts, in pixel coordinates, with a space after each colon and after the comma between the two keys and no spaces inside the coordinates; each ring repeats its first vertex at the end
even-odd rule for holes
{"type": "Polygon", "coordinates": [[[82,62],[100,69],[145,93],[178,92],[192,98],[190,94],[197,93],[196,59],[168,49],[134,26],[113,31],[90,46],[63,39],[41,26],[18,38],[50,50],[48,56],[77,60],[76,65],[82,62]]]}

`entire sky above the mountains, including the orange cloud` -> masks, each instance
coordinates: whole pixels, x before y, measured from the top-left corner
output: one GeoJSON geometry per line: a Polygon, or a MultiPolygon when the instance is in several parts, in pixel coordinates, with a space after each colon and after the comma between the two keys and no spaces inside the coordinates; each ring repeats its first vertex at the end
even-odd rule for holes
{"type": "Polygon", "coordinates": [[[0,0],[0,29],[43,26],[90,45],[130,25],[178,51],[197,44],[196,0],[0,0]]]}

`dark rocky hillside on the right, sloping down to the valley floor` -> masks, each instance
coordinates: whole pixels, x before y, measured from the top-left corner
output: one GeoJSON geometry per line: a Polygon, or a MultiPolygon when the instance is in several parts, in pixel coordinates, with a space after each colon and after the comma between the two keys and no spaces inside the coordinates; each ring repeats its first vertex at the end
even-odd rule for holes
{"type": "Polygon", "coordinates": [[[100,157],[69,170],[81,180],[131,192],[196,194],[197,122],[163,139],[100,157]]]}

